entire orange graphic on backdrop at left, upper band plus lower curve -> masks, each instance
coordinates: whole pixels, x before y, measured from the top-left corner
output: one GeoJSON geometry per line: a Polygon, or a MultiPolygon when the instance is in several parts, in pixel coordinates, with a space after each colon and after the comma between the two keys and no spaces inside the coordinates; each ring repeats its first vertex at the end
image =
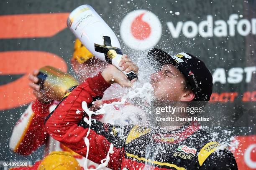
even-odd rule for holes
{"type": "MultiPolygon", "coordinates": [[[[52,37],[67,28],[69,13],[20,14],[0,16],[0,39],[52,37]]],[[[43,51],[0,52],[3,62],[0,75],[23,74],[18,80],[0,86],[0,110],[11,109],[35,100],[28,87],[28,75],[35,69],[51,65],[67,71],[66,62],[58,55],[43,51]]]]}

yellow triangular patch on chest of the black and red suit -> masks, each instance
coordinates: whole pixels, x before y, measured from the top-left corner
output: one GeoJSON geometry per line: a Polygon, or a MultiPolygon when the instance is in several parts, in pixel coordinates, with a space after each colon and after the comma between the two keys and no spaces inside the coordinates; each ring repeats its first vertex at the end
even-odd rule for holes
{"type": "Polygon", "coordinates": [[[139,138],[140,136],[145,135],[145,134],[149,133],[150,131],[151,131],[151,129],[136,125],[131,129],[125,143],[128,144],[131,141],[133,141],[134,139],[139,138]]]}

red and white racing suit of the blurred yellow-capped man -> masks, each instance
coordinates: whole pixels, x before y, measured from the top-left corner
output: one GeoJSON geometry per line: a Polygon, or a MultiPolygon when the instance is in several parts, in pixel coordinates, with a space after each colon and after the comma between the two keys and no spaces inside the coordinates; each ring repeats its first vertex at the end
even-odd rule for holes
{"type": "MultiPolygon", "coordinates": [[[[109,92],[111,90],[108,90],[109,92]]],[[[108,95],[109,97],[110,95],[108,95]]],[[[104,100],[104,103],[113,100],[104,100]]],[[[67,146],[59,143],[59,141],[54,140],[47,133],[44,120],[49,113],[54,110],[58,105],[58,101],[53,101],[50,103],[42,103],[39,100],[32,102],[25,112],[21,115],[20,119],[16,122],[13,133],[9,141],[9,147],[13,152],[19,153],[20,155],[29,155],[33,151],[37,150],[41,145],[46,145],[44,156],[48,155],[52,151],[66,151],[73,155],[77,159],[79,164],[82,166],[85,158],[74,151],[72,151],[67,146]]],[[[95,117],[97,119],[101,118],[101,115],[95,117]]],[[[21,168],[22,170],[32,170],[37,169],[38,162],[33,165],[33,167],[21,168]]],[[[87,165],[89,169],[94,169],[97,164],[88,160],[87,165]]]]}

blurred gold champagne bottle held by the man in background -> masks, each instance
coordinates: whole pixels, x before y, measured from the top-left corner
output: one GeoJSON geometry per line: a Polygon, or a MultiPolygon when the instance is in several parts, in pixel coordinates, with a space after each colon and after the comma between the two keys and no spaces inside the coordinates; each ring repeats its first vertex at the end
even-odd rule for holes
{"type": "Polygon", "coordinates": [[[47,96],[59,101],[72,87],[78,85],[72,75],[51,66],[40,68],[37,77],[41,90],[44,90],[47,96]]]}

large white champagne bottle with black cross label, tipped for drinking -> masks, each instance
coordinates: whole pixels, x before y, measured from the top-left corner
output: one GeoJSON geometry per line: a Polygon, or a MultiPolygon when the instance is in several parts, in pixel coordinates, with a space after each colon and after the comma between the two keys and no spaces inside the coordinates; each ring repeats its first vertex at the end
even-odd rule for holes
{"type": "MultiPolygon", "coordinates": [[[[74,9],[67,19],[67,26],[95,57],[121,70],[118,64],[123,53],[118,38],[90,5],[74,9]]],[[[122,72],[130,81],[137,78],[133,71],[122,72]]]]}

